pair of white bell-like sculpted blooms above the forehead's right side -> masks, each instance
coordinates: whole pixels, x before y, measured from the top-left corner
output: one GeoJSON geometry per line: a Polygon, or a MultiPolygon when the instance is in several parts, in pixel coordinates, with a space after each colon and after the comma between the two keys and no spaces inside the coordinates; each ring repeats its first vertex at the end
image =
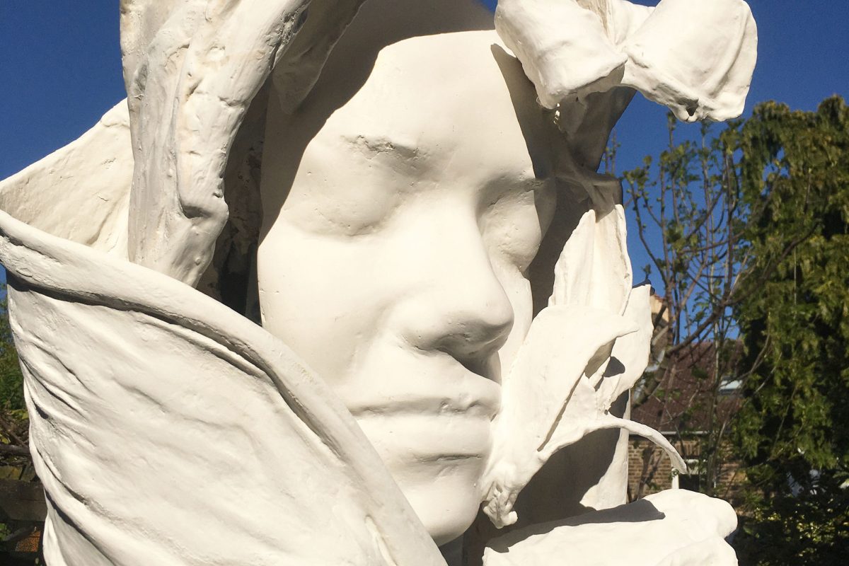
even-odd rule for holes
{"type": "Polygon", "coordinates": [[[679,120],[728,120],[743,112],[757,58],[743,0],[502,0],[495,21],[548,109],[633,87],[679,120]]]}

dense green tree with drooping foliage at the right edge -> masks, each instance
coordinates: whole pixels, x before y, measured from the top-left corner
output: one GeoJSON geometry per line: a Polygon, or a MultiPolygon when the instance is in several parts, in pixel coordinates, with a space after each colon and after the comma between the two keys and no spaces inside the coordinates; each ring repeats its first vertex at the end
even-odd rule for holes
{"type": "Polygon", "coordinates": [[[744,198],[762,214],[746,227],[752,277],[735,307],[753,367],[735,440],[767,496],[841,485],[849,478],[849,109],[836,97],[815,113],[762,104],[740,129],[739,149],[744,198]]]}

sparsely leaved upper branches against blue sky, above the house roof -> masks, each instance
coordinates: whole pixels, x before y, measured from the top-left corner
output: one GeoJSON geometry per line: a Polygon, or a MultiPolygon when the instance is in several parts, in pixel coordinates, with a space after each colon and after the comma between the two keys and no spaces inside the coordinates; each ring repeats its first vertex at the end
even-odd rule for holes
{"type": "Polygon", "coordinates": [[[671,350],[722,339],[732,327],[724,308],[734,292],[744,221],[733,159],[734,128],[713,135],[703,125],[700,143],[677,142],[669,115],[669,145],[659,159],[624,173],[638,238],[651,263],[646,276],[666,294],[671,350]]]}

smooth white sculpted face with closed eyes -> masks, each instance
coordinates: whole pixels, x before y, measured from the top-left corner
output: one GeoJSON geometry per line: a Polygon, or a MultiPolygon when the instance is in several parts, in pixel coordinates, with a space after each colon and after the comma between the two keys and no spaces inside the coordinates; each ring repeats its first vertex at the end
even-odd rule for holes
{"type": "Polygon", "coordinates": [[[438,543],[479,507],[554,210],[529,149],[543,116],[495,37],[385,48],[326,121],[272,112],[264,158],[263,323],[335,388],[438,543]]]}

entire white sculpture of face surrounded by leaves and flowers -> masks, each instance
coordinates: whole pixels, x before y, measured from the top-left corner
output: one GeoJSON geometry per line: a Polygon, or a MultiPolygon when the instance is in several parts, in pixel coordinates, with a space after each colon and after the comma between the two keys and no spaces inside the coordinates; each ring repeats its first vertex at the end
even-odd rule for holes
{"type": "Polygon", "coordinates": [[[728,504],[624,505],[625,431],[683,462],[595,170],[635,88],[739,114],[748,7],[358,7],[125,0],[129,104],[0,183],[48,564],[445,564],[481,502],[469,564],[735,563],[728,504]]]}

